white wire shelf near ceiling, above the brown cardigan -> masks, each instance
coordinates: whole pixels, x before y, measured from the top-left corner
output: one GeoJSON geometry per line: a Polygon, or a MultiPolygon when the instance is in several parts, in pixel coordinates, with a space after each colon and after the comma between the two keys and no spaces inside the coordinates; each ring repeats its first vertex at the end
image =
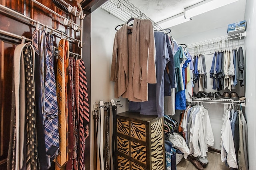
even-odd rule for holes
{"type": "MultiPolygon", "coordinates": [[[[143,20],[151,20],[142,11],[140,11],[134,4],[128,0],[108,0],[100,7],[109,14],[119,18],[123,22],[127,22],[130,18],[139,18],[143,20]]],[[[158,24],[151,20],[154,29],[162,30],[158,24]]]]}

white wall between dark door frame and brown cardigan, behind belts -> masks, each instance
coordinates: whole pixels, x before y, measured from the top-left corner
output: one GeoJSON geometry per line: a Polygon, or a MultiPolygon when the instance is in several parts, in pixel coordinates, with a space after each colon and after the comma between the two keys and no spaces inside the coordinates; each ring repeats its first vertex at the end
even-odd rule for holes
{"type": "MultiPolygon", "coordinates": [[[[109,102],[114,98],[114,82],[110,81],[110,67],[112,61],[112,50],[115,37],[115,27],[122,21],[98,8],[92,13],[91,32],[91,117],[94,111],[94,103],[99,100],[109,102]]],[[[121,99],[123,107],[118,106],[117,112],[128,111],[128,102],[121,99]]],[[[98,105],[95,105],[97,107],[98,105]]],[[[110,127],[112,129],[112,127],[110,127]]],[[[91,119],[91,164],[94,170],[92,156],[94,154],[94,123],[91,119]]]]}

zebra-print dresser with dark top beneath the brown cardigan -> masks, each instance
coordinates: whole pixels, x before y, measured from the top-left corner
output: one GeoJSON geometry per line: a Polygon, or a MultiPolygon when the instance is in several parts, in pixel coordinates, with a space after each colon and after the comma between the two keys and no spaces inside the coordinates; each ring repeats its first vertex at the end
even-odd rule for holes
{"type": "Polygon", "coordinates": [[[165,170],[163,118],[127,111],[116,121],[118,170],[165,170]]]}

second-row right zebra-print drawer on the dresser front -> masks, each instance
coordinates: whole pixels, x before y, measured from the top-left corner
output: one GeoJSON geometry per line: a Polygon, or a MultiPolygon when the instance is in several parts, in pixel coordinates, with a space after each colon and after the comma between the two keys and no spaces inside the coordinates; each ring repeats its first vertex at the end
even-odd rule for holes
{"type": "Polygon", "coordinates": [[[146,164],[146,146],[131,141],[131,157],[146,164]]]}

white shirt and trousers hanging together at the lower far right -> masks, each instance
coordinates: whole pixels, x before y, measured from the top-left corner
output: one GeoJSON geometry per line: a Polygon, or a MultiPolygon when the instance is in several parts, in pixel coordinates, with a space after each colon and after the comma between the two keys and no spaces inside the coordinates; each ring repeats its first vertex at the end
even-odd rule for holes
{"type": "Polygon", "coordinates": [[[230,168],[248,170],[247,125],[242,110],[224,105],[221,160],[230,168]]]}

